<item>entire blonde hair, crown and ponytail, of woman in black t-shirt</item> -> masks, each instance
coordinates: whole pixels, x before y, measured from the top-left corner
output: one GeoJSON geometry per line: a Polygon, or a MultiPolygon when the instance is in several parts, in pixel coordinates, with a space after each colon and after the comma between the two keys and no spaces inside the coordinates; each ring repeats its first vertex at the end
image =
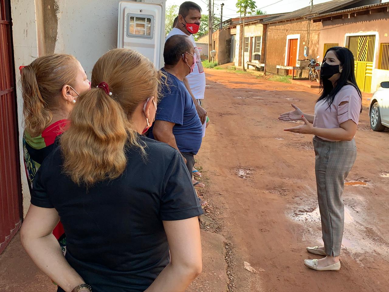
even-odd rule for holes
{"type": "Polygon", "coordinates": [[[149,59],[130,49],[113,49],[96,62],[92,89],[79,96],[60,141],[72,181],[93,185],[119,177],[127,165],[126,145],[144,153],[131,118],[140,103],[158,96],[160,78],[149,59]],[[112,95],[96,88],[102,82],[112,95]]]}

